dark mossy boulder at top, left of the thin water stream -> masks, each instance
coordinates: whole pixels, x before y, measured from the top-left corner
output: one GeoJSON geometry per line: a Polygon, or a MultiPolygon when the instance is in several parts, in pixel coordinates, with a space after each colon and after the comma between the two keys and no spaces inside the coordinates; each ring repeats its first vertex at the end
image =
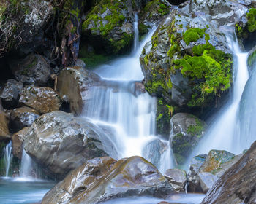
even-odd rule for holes
{"type": "Polygon", "coordinates": [[[135,5],[131,0],[102,0],[86,15],[83,35],[108,54],[129,50],[133,39],[135,5]]]}

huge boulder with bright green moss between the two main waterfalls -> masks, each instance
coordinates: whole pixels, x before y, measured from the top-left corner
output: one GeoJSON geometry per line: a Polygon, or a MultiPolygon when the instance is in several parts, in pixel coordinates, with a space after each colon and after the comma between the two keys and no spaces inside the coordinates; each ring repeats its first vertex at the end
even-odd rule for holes
{"type": "Polygon", "coordinates": [[[221,26],[235,26],[241,7],[191,1],[173,9],[140,55],[148,93],[181,111],[214,107],[232,84],[232,51],[221,26]]]}

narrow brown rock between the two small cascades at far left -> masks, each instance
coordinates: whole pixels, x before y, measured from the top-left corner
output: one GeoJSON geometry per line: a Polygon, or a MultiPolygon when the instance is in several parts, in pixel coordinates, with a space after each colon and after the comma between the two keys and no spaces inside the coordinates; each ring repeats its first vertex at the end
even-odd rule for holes
{"type": "Polygon", "coordinates": [[[24,127],[18,133],[13,134],[12,136],[12,154],[21,160],[22,151],[23,151],[23,141],[28,134],[29,127],[24,127]]]}

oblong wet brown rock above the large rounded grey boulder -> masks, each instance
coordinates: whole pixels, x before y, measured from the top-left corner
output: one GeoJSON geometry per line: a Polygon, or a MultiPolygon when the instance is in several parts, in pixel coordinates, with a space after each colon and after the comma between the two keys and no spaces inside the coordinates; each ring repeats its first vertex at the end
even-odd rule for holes
{"type": "Polygon", "coordinates": [[[50,87],[26,86],[20,93],[18,105],[28,106],[39,111],[40,114],[45,114],[59,110],[61,98],[50,87]]]}

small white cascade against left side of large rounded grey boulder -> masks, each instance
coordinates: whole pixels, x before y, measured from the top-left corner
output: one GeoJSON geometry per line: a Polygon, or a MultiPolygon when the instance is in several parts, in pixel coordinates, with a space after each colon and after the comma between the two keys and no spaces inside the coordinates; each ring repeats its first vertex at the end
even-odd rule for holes
{"type": "Polygon", "coordinates": [[[32,167],[33,165],[32,165],[31,157],[29,157],[29,154],[27,154],[25,149],[23,149],[21,165],[20,165],[20,177],[21,178],[33,177],[32,167]]]}

